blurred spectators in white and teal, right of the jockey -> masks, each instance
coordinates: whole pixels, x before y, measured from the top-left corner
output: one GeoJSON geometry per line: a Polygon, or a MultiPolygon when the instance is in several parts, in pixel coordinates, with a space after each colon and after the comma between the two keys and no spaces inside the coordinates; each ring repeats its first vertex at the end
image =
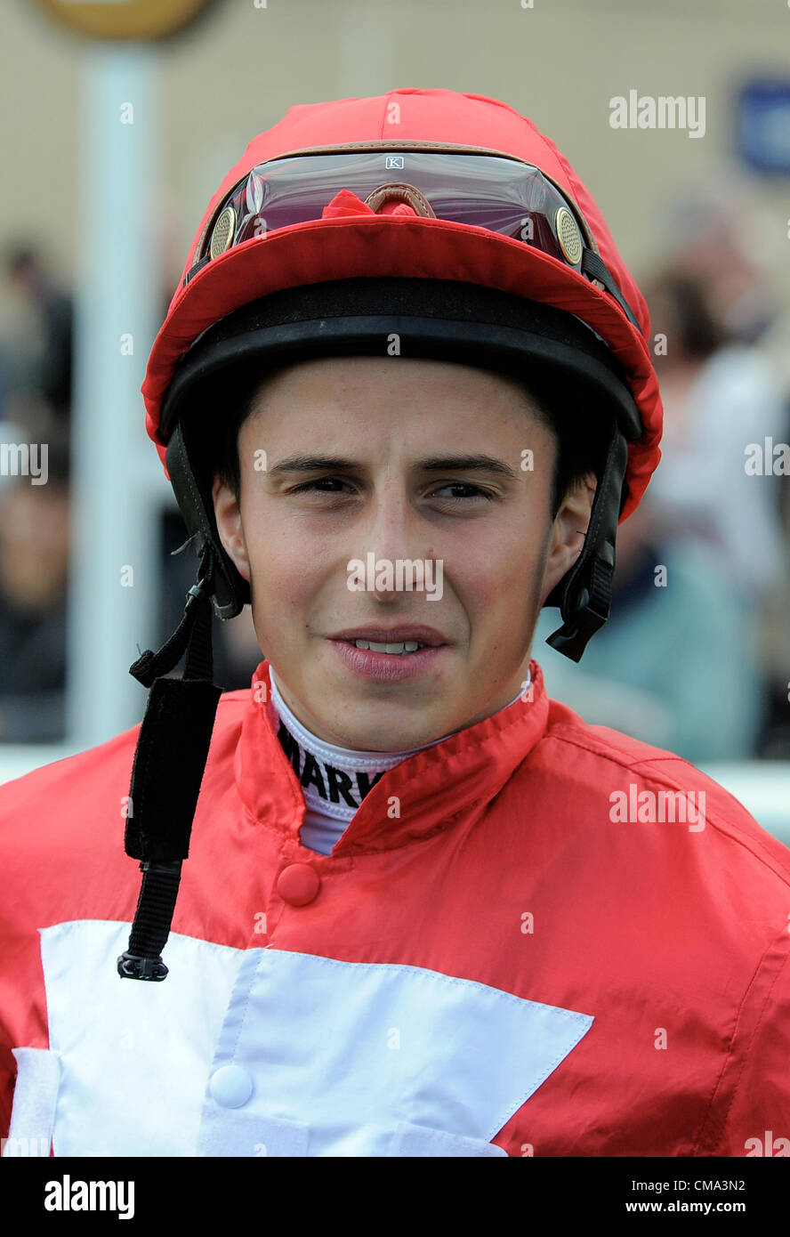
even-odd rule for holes
{"type": "Polygon", "coordinates": [[[790,758],[790,314],[737,184],[665,210],[640,281],[665,429],[618,531],[612,614],[571,664],[533,644],[549,694],[696,764],[790,758]]]}

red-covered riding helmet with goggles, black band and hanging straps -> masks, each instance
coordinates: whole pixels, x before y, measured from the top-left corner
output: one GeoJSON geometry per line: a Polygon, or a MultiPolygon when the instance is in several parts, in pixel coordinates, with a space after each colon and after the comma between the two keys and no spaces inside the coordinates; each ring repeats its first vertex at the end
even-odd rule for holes
{"type": "Polygon", "coordinates": [[[122,977],[167,975],[220,694],[209,601],[227,618],[250,600],[214,520],[219,418],[266,366],[387,355],[392,333],[399,355],[572,392],[580,424],[600,429],[598,485],[582,552],[546,599],[563,617],[549,643],[577,662],[608,617],[617,526],[659,461],[661,402],[647,306],[592,197],[496,99],[412,89],[291,108],[214,194],[142,386],[200,567],[177,632],[131,667],[152,690],[126,821],[143,882],[122,977]],[[168,678],[184,651],[183,678],[168,678]]]}

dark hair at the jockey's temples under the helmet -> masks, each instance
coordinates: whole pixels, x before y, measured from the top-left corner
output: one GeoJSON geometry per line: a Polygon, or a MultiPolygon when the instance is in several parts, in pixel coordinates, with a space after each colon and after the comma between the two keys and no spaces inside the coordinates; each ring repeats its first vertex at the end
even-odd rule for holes
{"type": "MultiPolygon", "coordinates": [[[[242,376],[236,379],[230,391],[226,386],[223,391],[223,403],[230,404],[232,411],[223,424],[213,470],[221,476],[236,500],[241,492],[239,433],[252,412],[263,376],[258,370],[255,379],[242,376]]],[[[581,392],[579,385],[566,376],[542,372],[530,374],[528,380],[519,381],[537,418],[554,432],[558,444],[551,479],[554,520],[571,486],[585,474],[597,473],[606,449],[603,439],[607,437],[601,427],[608,424],[608,421],[602,421],[605,409],[600,397],[581,392]]]]}

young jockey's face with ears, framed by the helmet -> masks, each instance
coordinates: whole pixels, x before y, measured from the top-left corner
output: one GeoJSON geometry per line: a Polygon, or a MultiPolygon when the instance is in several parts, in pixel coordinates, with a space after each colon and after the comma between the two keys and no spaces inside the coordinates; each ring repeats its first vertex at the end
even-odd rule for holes
{"type": "Polygon", "coordinates": [[[551,520],[555,450],[525,390],[488,370],[328,357],[263,381],[239,434],[241,501],[218,477],[214,507],[251,583],[261,649],[308,730],[341,747],[398,751],[474,725],[519,693],[538,614],[579,557],[593,496],[581,486],[551,520]],[[480,455],[502,470],[435,466],[480,455]],[[347,463],[283,469],[292,456],[347,463]],[[365,564],[362,591],[349,589],[352,559],[365,564]],[[422,589],[408,568],[398,581],[398,560],[423,564],[422,589]],[[391,580],[377,575],[382,563],[391,580]],[[394,654],[357,657],[338,640],[413,623],[434,628],[441,647],[404,653],[393,678],[394,654]]]}

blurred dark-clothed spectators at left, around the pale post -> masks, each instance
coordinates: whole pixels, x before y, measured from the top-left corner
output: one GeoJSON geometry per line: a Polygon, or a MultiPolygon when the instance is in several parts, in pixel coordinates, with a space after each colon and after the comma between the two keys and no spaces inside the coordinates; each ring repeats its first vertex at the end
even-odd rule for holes
{"type": "MultiPolygon", "coordinates": [[[[0,268],[0,742],[67,738],[67,616],[74,303],[45,255],[15,244],[0,268]]],[[[169,301],[163,302],[163,312],[169,301]]],[[[172,555],[185,531],[162,511],[158,648],[194,583],[193,554],[172,555]]],[[[215,682],[250,685],[261,653],[250,609],[214,620],[215,682]]],[[[130,649],[129,663],[137,656],[130,649]]]]}

